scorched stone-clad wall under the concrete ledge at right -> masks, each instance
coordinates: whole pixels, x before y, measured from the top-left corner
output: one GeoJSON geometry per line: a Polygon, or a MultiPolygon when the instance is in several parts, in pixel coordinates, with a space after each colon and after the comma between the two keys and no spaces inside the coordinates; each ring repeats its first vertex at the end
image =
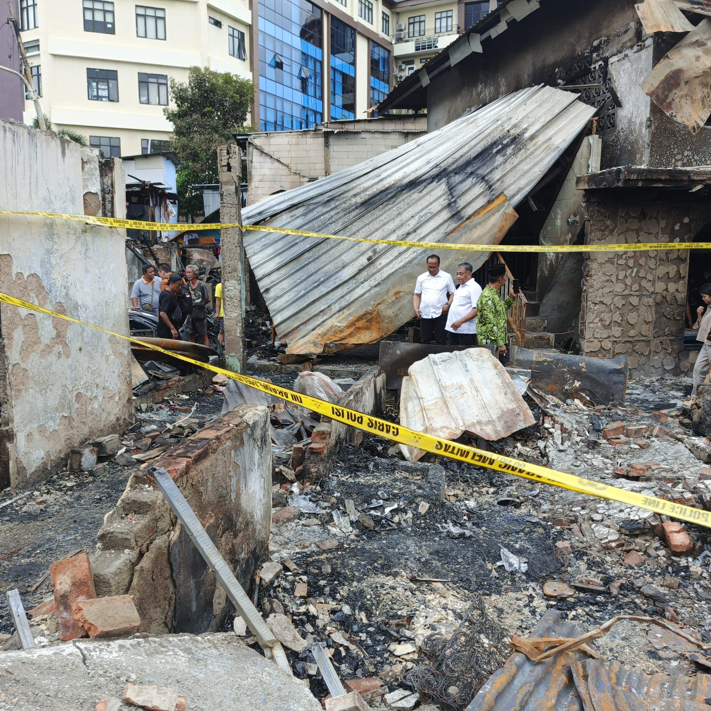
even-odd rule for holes
{"type": "MultiPolygon", "coordinates": [[[[587,196],[588,243],[690,242],[711,220],[700,204],[622,203],[587,196]]],[[[626,355],[630,373],[689,369],[683,352],[686,250],[591,252],[583,270],[582,355],[626,355]]]]}

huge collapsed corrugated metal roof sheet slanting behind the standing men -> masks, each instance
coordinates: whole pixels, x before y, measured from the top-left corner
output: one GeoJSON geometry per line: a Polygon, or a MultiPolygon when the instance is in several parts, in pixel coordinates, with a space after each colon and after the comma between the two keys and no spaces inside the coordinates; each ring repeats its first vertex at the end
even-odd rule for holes
{"type": "MultiPolygon", "coordinates": [[[[375,343],[412,316],[425,250],[279,234],[496,244],[517,205],[595,109],[551,87],[503,97],[436,132],[250,205],[245,250],[287,353],[375,343]]],[[[486,253],[443,252],[442,268],[486,253]]]]}

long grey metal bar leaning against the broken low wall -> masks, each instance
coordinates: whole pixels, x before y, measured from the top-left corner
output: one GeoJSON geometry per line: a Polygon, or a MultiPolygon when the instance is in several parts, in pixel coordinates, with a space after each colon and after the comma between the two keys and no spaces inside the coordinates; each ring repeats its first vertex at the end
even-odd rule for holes
{"type": "Polygon", "coordinates": [[[154,476],[158,488],[170,504],[178,520],[185,526],[190,540],[200,551],[208,567],[215,573],[218,582],[228,594],[237,613],[257,638],[260,647],[264,650],[264,656],[274,661],[279,668],[291,674],[292,668],[289,666],[282,643],[274,637],[257,608],[247,597],[247,593],[242,589],[240,582],[228,567],[225,559],[220,555],[220,551],[208,536],[195,512],[190,508],[190,504],[186,501],[173,479],[171,479],[170,474],[162,467],[161,469],[153,469],[151,474],[154,476]]]}

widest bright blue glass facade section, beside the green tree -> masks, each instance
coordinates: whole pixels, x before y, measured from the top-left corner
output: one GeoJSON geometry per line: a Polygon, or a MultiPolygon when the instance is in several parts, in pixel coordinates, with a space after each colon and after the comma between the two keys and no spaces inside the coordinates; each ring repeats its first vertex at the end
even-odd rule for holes
{"type": "Polygon", "coordinates": [[[323,16],[308,0],[260,0],[260,129],[323,121],[323,16]]]}

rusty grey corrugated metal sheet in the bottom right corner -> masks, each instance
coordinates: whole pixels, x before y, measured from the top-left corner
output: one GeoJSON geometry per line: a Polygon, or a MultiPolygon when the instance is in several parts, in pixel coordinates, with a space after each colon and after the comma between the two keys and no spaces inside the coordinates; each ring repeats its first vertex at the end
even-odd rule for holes
{"type": "MultiPolygon", "coordinates": [[[[560,621],[559,611],[550,610],[530,636],[579,634],[560,621]]],[[[516,653],[484,683],[466,711],[697,711],[707,707],[709,697],[709,674],[647,675],[580,651],[540,662],[516,653]]]]}

